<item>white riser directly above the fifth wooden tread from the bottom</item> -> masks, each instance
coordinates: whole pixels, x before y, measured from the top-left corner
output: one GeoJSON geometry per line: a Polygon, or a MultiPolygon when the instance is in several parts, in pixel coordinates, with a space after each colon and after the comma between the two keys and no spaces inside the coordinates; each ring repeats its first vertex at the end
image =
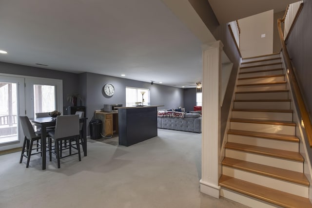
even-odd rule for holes
{"type": "Polygon", "coordinates": [[[233,111],[233,118],[292,121],[292,113],[233,111]]]}

